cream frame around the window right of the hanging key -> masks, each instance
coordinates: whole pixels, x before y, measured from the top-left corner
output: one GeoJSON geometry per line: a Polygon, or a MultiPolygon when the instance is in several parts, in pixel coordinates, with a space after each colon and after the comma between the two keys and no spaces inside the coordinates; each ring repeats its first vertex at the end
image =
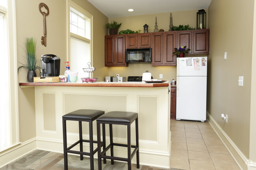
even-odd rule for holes
{"type": "MultiPolygon", "coordinates": [[[[67,0],[67,61],[70,61],[70,36],[83,40],[85,42],[89,42],[90,43],[90,60],[91,60],[91,67],[93,66],[93,15],[91,15],[90,13],[88,13],[87,11],[85,11],[82,7],[80,7],[79,5],[75,4],[74,2],[72,2],[71,0],[67,0]],[[90,40],[84,37],[81,37],[79,35],[76,35],[74,33],[70,33],[70,7],[74,8],[75,10],[79,11],[80,13],[82,13],[83,15],[85,15],[87,18],[90,19],[90,29],[91,29],[91,33],[90,33],[90,40]]],[[[93,73],[91,73],[90,76],[93,76],[93,73]]]]}

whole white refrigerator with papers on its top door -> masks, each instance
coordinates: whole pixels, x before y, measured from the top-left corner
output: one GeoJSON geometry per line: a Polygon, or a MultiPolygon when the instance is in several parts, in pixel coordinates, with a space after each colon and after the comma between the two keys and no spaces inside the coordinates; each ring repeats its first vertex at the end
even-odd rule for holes
{"type": "Polygon", "coordinates": [[[207,57],[177,58],[176,120],[206,120],[207,57]]]}

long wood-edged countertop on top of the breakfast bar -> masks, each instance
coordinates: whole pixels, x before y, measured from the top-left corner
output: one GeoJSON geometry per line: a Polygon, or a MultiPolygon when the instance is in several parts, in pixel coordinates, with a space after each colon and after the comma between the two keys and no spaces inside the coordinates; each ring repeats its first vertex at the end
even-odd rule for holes
{"type": "Polygon", "coordinates": [[[170,81],[162,83],[142,83],[142,82],[93,82],[93,83],[70,83],[70,82],[55,82],[55,83],[42,83],[42,82],[20,82],[21,88],[35,87],[35,86],[67,86],[67,87],[168,87],[170,81]]]}

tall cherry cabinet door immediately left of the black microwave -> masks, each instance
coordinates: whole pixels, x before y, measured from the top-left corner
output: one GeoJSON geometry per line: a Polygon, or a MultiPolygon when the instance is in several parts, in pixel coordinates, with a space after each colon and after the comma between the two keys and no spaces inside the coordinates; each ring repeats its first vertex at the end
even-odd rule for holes
{"type": "Polygon", "coordinates": [[[115,37],[115,65],[126,66],[125,35],[118,35],[115,37]]]}

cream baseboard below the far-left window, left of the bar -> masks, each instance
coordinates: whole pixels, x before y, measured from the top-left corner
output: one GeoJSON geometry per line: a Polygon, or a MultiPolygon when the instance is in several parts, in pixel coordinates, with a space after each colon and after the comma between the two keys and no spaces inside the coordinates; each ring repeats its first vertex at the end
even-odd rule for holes
{"type": "Polygon", "coordinates": [[[36,150],[36,138],[22,142],[0,154],[0,168],[36,150]]]}

